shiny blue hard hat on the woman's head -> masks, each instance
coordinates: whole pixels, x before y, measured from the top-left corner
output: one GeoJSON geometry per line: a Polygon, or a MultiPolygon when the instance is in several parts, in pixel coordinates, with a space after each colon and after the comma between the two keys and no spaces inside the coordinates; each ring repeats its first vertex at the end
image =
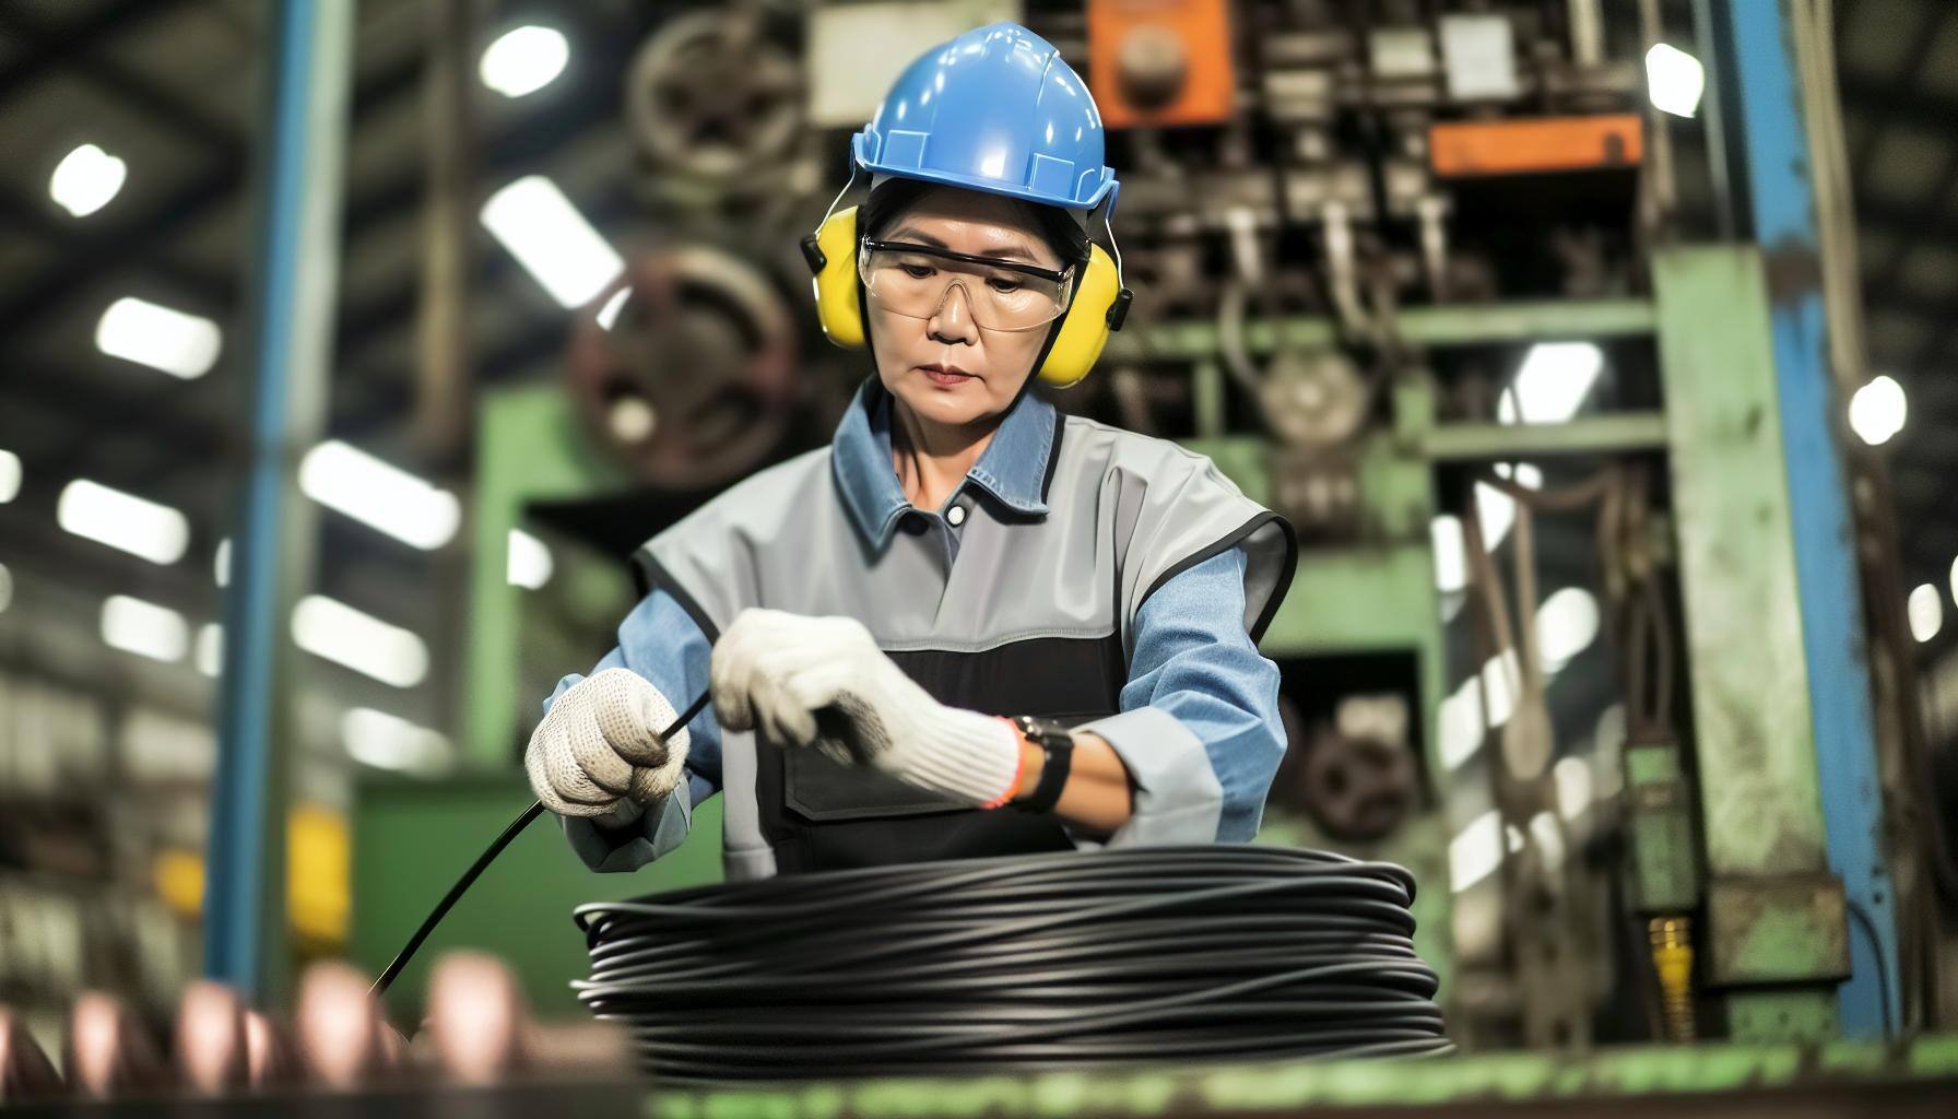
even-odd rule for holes
{"type": "Polygon", "coordinates": [[[873,174],[1079,212],[1114,210],[1120,192],[1089,84],[1018,24],[965,31],[910,63],[850,151],[873,174]]]}

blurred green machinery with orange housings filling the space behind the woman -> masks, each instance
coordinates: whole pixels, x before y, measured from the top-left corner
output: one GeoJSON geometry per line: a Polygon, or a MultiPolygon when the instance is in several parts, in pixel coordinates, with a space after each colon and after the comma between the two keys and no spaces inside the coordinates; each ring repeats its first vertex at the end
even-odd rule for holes
{"type": "MultiPolygon", "coordinates": [[[[1846,198],[1811,73],[1827,27],[1797,0],[676,8],[623,86],[627,270],[562,382],[484,400],[472,764],[362,788],[354,956],[378,970],[527,802],[536,698],[636,598],[619,557],[824,443],[867,372],[822,343],[795,249],[891,76],[863,29],[895,67],[1001,18],[1089,74],[1124,180],[1130,329],[1053,402],[1210,455],[1298,527],[1263,641],[1290,753],[1259,843],[1412,870],[1461,1054],[640,1105],[1948,1113],[1954,852],[1913,776],[1882,525],[1850,500],[1876,466],[1841,439],[1846,198]],[[1662,43],[1703,65],[1690,118],[1653,106],[1662,43]],[[538,592],[505,578],[515,527],[558,557],[538,592]]],[[[431,947],[490,947],[540,1013],[576,1013],[572,905],[713,882],[717,837],[701,805],[683,849],[613,878],[538,829],[431,947]]]]}

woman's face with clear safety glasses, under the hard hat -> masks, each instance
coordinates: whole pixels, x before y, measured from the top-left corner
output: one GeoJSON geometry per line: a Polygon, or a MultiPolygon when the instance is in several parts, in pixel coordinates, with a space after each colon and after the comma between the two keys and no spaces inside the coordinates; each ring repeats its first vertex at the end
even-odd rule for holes
{"type": "MultiPolygon", "coordinates": [[[[883,241],[944,245],[1042,268],[1061,259],[1018,204],[995,194],[938,188],[877,233],[883,241]]],[[[969,284],[952,284],[930,317],[897,314],[867,300],[877,376],[920,419],[969,425],[1002,414],[1034,374],[1034,355],[1053,323],[995,329],[973,321],[969,284]]]]}

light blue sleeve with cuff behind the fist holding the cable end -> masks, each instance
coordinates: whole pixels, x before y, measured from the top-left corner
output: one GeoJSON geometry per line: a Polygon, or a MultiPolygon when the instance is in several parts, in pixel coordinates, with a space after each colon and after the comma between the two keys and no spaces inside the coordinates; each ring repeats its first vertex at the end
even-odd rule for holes
{"type": "MultiPolygon", "coordinates": [[[[630,668],[652,682],[676,711],[685,711],[707,690],[711,655],[713,645],[693,615],[674,596],[654,590],[625,615],[619,623],[619,645],[591,672],[630,668]]],[[[544,709],[548,711],[550,704],[580,680],[583,680],[580,674],[558,680],[556,690],[544,700],[544,709]]],[[[679,847],[693,823],[693,805],[717,792],[721,792],[721,723],[715,721],[715,705],[707,704],[687,723],[685,784],[623,825],[609,825],[605,817],[566,815],[564,837],[591,870],[638,870],[679,847]]]]}

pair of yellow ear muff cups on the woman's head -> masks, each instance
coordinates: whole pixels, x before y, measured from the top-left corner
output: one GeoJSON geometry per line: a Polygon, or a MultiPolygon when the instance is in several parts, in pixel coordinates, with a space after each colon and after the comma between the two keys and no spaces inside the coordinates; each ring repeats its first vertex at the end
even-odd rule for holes
{"type": "MultiPolygon", "coordinates": [[[[824,218],[815,233],[803,237],[803,259],[813,274],[809,286],[816,298],[816,321],[822,333],[844,349],[862,349],[863,308],[856,274],[858,208],[838,210],[824,218]]],[[[1075,286],[1075,296],[1061,316],[1059,333],[1040,363],[1040,380],[1065,388],[1095,368],[1095,359],[1108,345],[1108,331],[1122,329],[1128,316],[1128,288],[1120,270],[1100,245],[1089,245],[1089,263],[1075,286]]]]}

